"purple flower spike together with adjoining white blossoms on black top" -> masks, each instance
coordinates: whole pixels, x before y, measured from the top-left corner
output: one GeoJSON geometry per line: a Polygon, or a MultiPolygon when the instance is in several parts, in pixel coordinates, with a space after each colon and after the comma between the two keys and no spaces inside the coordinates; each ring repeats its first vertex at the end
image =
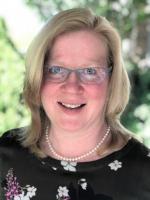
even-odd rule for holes
{"type": "Polygon", "coordinates": [[[14,176],[13,169],[11,168],[6,175],[6,200],[30,200],[36,195],[36,188],[30,185],[21,187],[14,176]]]}

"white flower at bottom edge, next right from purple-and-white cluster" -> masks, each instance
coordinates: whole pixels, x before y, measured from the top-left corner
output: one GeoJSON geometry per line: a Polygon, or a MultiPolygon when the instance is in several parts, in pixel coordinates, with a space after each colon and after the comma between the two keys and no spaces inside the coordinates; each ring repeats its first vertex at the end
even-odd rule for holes
{"type": "Polygon", "coordinates": [[[69,190],[67,189],[66,186],[64,186],[64,187],[59,186],[57,191],[58,191],[58,194],[56,195],[56,198],[58,200],[69,200],[70,199],[69,194],[68,194],[69,190]]]}

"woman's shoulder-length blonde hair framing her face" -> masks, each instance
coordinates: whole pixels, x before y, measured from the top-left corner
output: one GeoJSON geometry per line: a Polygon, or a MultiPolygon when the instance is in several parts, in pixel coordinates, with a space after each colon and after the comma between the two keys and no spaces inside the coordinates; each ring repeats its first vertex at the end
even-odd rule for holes
{"type": "Polygon", "coordinates": [[[62,11],[41,29],[26,55],[24,98],[31,111],[31,124],[24,132],[22,144],[38,155],[42,155],[38,142],[48,120],[40,100],[43,67],[47,55],[57,36],[80,30],[96,32],[106,41],[109,50],[108,60],[113,67],[106,105],[106,121],[113,132],[128,132],[120,123],[120,116],[129,100],[130,84],[123,66],[118,32],[104,17],[94,15],[89,9],[74,8],[62,11]]]}

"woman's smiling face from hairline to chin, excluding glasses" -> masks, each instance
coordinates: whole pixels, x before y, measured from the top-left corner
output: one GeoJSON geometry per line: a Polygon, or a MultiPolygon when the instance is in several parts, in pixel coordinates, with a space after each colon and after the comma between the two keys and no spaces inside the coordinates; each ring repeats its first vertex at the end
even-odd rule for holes
{"type": "MultiPolygon", "coordinates": [[[[63,34],[55,40],[49,66],[77,69],[107,67],[107,47],[91,31],[63,34]]],[[[82,83],[75,72],[62,83],[45,80],[41,89],[43,108],[51,126],[66,131],[86,130],[104,122],[108,77],[100,84],[82,83]]]]}

